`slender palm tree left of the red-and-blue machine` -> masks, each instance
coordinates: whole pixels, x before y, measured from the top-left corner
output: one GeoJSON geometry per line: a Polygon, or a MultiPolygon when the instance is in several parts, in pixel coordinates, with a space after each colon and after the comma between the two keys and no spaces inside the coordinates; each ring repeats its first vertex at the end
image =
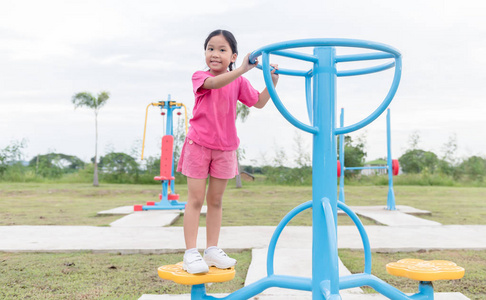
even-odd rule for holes
{"type": "Polygon", "coordinates": [[[74,104],[75,109],[84,106],[93,109],[95,113],[96,139],[95,139],[95,157],[94,157],[95,168],[94,168],[94,175],[93,175],[93,186],[99,186],[98,183],[98,112],[106,104],[108,98],[110,98],[110,93],[106,91],[100,92],[97,98],[88,92],[77,93],[72,98],[72,102],[74,104]]]}

